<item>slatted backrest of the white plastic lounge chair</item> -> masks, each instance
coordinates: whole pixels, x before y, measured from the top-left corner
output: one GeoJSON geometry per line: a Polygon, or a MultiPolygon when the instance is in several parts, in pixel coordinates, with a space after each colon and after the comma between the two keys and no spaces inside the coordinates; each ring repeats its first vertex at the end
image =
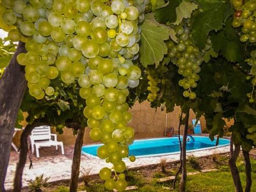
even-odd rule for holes
{"type": "Polygon", "coordinates": [[[50,126],[35,127],[31,136],[34,140],[51,140],[51,128],[50,126]]]}

